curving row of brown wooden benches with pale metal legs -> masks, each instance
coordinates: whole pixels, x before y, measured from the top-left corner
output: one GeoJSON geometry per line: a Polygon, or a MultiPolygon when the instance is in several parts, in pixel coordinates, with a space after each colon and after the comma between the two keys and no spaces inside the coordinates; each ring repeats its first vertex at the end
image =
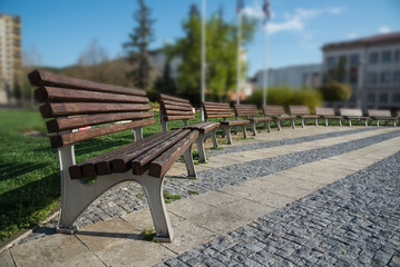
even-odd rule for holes
{"type": "MultiPolygon", "coordinates": [[[[147,195],[153,221],[156,228],[155,240],[172,241],[174,234],[163,197],[165,174],[173,164],[184,157],[187,174],[196,177],[192,158],[192,146],[197,145],[199,161],[205,162],[204,141],[212,137],[217,147],[216,131],[222,129],[228,144],[232,144],[231,129],[240,128],[246,137],[246,125],[277,122],[291,119],[315,119],[316,116],[303,113],[294,107],[293,115],[285,116],[282,107],[264,107],[265,115],[257,117],[255,106],[235,106],[237,117],[243,120],[226,120],[233,117],[227,103],[204,102],[206,121],[188,125],[194,118],[189,101],[166,95],[159,96],[162,132],[143,138],[143,127],[155,123],[149,99],[143,90],[109,86],[92,81],[68,78],[47,71],[33,71],[29,76],[32,86],[39,87],[35,95],[42,102],[40,112],[46,121],[51,146],[58,149],[61,174],[61,211],[58,231],[74,233],[74,221],[101,194],[113,186],[134,180],[139,182],[147,195]],[[301,117],[299,117],[301,116],[301,117]],[[208,119],[223,118],[222,121],[208,119]],[[167,123],[183,120],[184,127],[168,131],[167,123]],[[96,137],[133,130],[135,142],[77,164],[75,144],[96,137]],[[96,177],[92,184],[82,178],[96,177]]],[[[309,111],[308,111],[309,112],[309,111]]],[[[334,119],[324,111],[324,118],[334,119]]],[[[350,117],[349,117],[350,118],[350,117]]],[[[318,125],[318,122],[315,122],[318,125]]],[[[304,122],[303,122],[304,126],[304,122]]]]}

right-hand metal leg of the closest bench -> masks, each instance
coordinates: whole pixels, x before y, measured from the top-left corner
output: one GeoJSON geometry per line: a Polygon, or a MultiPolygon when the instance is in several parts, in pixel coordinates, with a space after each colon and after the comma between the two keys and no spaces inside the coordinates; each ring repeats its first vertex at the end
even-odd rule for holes
{"type": "Polygon", "coordinates": [[[163,243],[173,241],[174,231],[163,196],[164,177],[155,178],[143,175],[135,177],[135,180],[137,180],[144,187],[147,195],[147,201],[148,206],[150,207],[154,227],[156,228],[156,236],[153,238],[153,240],[163,243]]]}

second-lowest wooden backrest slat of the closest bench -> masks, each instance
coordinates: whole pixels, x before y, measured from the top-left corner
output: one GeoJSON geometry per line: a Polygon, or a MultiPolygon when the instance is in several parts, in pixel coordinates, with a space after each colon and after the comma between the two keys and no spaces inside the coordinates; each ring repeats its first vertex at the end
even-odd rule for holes
{"type": "Polygon", "coordinates": [[[59,117],[46,122],[47,130],[51,132],[76,129],[85,126],[96,126],[120,120],[137,120],[150,118],[153,111],[146,112],[120,112],[120,113],[100,113],[79,117],[59,117]]]}

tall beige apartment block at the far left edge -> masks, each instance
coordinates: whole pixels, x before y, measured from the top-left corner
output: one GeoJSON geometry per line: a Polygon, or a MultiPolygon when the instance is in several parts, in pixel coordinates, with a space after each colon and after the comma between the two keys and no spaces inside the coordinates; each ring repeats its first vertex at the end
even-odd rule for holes
{"type": "Polygon", "coordinates": [[[0,105],[12,103],[21,82],[21,21],[0,13],[0,105]],[[16,82],[18,82],[16,85],[16,82]]]}

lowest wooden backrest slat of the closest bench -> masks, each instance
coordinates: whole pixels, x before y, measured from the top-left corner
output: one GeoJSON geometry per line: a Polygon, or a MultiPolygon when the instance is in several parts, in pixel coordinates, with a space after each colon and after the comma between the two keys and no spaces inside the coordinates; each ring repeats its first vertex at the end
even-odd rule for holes
{"type": "Polygon", "coordinates": [[[58,147],[62,147],[62,146],[67,146],[67,145],[72,145],[72,144],[76,144],[79,141],[85,141],[85,140],[91,139],[94,137],[99,137],[99,136],[104,136],[104,135],[108,135],[108,134],[128,130],[128,129],[133,129],[136,127],[153,125],[155,122],[156,122],[156,120],[153,118],[153,119],[148,119],[148,120],[136,120],[133,122],[126,122],[126,123],[119,123],[119,125],[108,125],[108,126],[91,128],[91,129],[78,131],[78,132],[51,136],[50,142],[53,148],[58,148],[58,147]]]}

